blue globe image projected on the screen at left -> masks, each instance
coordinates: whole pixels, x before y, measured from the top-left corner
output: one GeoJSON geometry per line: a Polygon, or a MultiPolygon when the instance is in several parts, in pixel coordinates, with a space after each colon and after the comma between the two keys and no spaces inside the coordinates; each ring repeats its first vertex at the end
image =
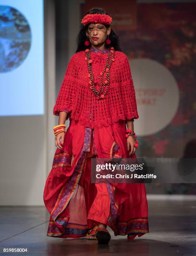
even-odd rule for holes
{"type": "Polygon", "coordinates": [[[0,72],[16,69],[31,47],[31,29],[17,9],[0,5],[0,72]]]}

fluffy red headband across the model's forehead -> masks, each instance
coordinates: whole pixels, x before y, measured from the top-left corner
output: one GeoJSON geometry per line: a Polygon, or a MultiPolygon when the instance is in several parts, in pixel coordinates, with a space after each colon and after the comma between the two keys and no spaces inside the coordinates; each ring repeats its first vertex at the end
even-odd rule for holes
{"type": "Polygon", "coordinates": [[[88,23],[102,23],[105,25],[112,23],[112,18],[107,14],[87,14],[84,16],[84,18],[81,20],[81,23],[85,26],[88,23]]]}

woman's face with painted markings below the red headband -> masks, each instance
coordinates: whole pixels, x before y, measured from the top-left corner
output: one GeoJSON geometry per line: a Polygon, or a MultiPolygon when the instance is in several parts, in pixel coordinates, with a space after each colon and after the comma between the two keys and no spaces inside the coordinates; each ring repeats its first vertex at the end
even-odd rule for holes
{"type": "Polygon", "coordinates": [[[90,23],[86,31],[86,35],[89,38],[89,41],[94,46],[100,46],[104,44],[104,41],[107,39],[111,28],[106,28],[104,24],[100,23],[90,23]]]}

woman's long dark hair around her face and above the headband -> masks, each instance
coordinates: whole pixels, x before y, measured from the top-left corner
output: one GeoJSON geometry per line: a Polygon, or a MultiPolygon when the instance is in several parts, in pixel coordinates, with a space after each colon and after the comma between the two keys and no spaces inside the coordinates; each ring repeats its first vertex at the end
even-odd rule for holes
{"type": "MultiPolygon", "coordinates": [[[[87,14],[107,14],[108,13],[103,9],[103,8],[92,8],[91,10],[89,10],[85,15],[87,14]]],[[[78,51],[84,51],[87,48],[91,47],[91,43],[89,44],[89,46],[85,46],[84,42],[87,40],[87,36],[86,36],[86,30],[88,28],[88,25],[82,25],[83,27],[81,28],[81,30],[79,31],[79,34],[77,36],[77,50],[78,51]]],[[[105,25],[107,28],[109,28],[110,25],[105,25]]],[[[105,48],[110,48],[110,47],[114,47],[114,49],[116,51],[122,51],[120,48],[120,44],[119,44],[119,37],[117,36],[117,34],[113,31],[113,29],[111,28],[111,32],[109,34],[109,40],[111,41],[111,44],[107,45],[105,44],[105,48]]]]}

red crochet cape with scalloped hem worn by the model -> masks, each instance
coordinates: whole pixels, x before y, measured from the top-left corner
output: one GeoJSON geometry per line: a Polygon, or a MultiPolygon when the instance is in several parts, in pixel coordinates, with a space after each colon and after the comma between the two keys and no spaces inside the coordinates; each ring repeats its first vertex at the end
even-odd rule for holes
{"type": "MultiPolygon", "coordinates": [[[[91,52],[92,72],[100,86],[100,72],[103,71],[108,53],[91,52]]],[[[59,115],[64,109],[69,111],[67,119],[79,120],[85,127],[102,127],[119,119],[139,118],[135,90],[127,56],[115,51],[115,61],[110,67],[109,88],[104,99],[98,99],[89,84],[89,71],[85,52],[74,54],[68,64],[61,84],[53,114],[59,115]]],[[[103,79],[104,81],[104,79],[103,79]]]]}

